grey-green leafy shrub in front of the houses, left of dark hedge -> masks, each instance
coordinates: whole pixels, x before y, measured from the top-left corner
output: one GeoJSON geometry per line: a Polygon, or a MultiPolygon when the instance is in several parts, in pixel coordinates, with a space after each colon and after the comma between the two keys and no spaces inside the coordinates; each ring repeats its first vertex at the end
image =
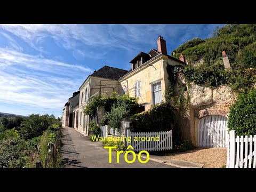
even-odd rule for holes
{"type": "Polygon", "coordinates": [[[130,109],[128,104],[124,100],[118,100],[117,103],[113,104],[110,112],[103,115],[100,124],[104,125],[107,121],[109,127],[113,127],[113,129],[120,131],[121,121],[129,117],[130,109]]]}

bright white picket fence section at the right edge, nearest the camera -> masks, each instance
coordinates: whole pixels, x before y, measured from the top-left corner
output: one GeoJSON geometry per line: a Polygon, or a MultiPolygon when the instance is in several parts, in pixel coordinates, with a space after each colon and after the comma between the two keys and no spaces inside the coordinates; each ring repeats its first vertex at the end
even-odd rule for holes
{"type": "Polygon", "coordinates": [[[235,131],[229,131],[227,138],[227,168],[256,167],[256,135],[235,137],[235,131]]]}

